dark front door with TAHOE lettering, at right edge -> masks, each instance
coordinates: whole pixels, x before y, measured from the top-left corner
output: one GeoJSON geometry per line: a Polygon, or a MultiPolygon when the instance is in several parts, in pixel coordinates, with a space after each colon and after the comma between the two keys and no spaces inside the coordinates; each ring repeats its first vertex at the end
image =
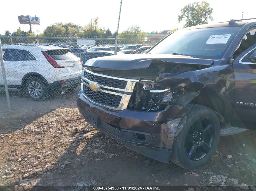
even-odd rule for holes
{"type": "Polygon", "coordinates": [[[233,126],[256,129],[256,63],[249,57],[256,51],[256,44],[234,59],[235,100],[233,126]]]}

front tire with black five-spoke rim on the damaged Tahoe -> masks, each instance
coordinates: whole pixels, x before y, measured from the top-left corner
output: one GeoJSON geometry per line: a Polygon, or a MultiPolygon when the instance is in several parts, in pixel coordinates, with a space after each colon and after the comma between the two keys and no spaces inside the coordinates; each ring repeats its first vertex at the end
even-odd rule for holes
{"type": "Polygon", "coordinates": [[[171,161],[185,169],[206,164],[220,138],[220,122],[209,107],[188,104],[190,110],[181,119],[175,134],[171,161]]]}

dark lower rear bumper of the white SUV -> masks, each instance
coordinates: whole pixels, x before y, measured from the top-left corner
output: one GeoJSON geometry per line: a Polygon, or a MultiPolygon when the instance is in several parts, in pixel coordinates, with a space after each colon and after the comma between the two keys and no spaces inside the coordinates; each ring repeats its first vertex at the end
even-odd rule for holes
{"type": "Polygon", "coordinates": [[[78,85],[81,85],[81,76],[70,78],[67,81],[54,81],[49,84],[48,88],[50,91],[67,91],[76,88],[78,85]]]}

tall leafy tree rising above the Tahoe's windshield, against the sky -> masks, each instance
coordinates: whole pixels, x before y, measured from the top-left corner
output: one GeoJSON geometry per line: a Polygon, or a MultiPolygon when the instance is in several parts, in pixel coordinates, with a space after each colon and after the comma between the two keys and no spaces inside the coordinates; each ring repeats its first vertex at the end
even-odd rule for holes
{"type": "Polygon", "coordinates": [[[193,4],[188,4],[180,10],[180,14],[178,15],[178,22],[184,21],[184,27],[188,27],[188,10],[189,12],[189,27],[199,25],[199,24],[207,24],[208,20],[213,21],[211,16],[213,12],[213,8],[210,7],[210,4],[206,1],[202,2],[194,2],[193,4]]]}

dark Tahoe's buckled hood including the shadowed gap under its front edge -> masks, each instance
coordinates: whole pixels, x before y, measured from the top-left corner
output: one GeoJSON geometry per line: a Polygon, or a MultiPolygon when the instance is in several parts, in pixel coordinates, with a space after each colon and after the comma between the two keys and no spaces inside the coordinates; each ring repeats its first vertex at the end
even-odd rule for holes
{"type": "Polygon", "coordinates": [[[160,72],[177,73],[211,67],[214,60],[172,54],[132,54],[88,60],[93,72],[124,78],[154,78],[160,72]]]}

